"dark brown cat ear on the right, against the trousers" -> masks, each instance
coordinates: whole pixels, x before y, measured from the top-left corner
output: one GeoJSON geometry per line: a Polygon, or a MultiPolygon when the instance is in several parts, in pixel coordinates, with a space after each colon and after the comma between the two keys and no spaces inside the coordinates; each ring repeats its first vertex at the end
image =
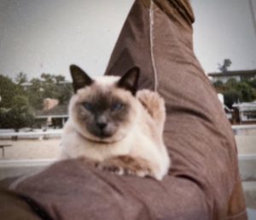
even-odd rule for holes
{"type": "Polygon", "coordinates": [[[118,81],[118,87],[131,91],[132,95],[137,92],[137,83],[139,78],[140,69],[138,67],[132,67],[125,73],[118,81]]]}

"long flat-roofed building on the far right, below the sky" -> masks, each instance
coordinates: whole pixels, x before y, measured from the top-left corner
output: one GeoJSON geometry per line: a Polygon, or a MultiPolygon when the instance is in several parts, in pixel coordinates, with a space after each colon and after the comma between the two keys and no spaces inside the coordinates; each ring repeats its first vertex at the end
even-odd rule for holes
{"type": "Polygon", "coordinates": [[[256,78],[256,70],[241,70],[227,72],[209,72],[208,77],[212,78],[212,82],[221,81],[226,83],[230,78],[235,78],[236,81],[249,80],[256,78]]]}

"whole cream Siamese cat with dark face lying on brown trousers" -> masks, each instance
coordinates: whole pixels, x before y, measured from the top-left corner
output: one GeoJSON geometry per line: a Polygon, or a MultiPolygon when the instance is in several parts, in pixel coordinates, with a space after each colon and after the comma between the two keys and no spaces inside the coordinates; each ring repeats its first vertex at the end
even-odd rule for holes
{"type": "Polygon", "coordinates": [[[103,171],[161,180],[170,159],[163,141],[166,119],[158,93],[138,90],[139,69],[123,77],[90,78],[72,65],[69,119],[61,137],[61,159],[84,157],[103,171]]]}

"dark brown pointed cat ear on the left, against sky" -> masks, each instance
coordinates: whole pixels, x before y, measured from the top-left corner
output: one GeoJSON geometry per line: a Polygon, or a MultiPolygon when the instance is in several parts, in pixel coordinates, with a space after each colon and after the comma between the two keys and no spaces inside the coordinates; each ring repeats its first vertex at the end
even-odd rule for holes
{"type": "Polygon", "coordinates": [[[93,80],[86,74],[86,72],[78,66],[71,65],[69,69],[73,79],[73,90],[75,93],[77,90],[93,83],[93,80]]]}

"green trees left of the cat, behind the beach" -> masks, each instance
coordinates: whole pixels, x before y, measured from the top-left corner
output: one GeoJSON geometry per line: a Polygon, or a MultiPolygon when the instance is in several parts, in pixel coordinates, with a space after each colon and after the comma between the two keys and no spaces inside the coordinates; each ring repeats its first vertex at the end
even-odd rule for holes
{"type": "Polygon", "coordinates": [[[43,108],[45,98],[58,99],[64,104],[72,96],[72,84],[61,75],[43,73],[28,82],[26,74],[20,72],[15,82],[0,75],[0,128],[31,127],[35,124],[33,113],[43,108]]]}

